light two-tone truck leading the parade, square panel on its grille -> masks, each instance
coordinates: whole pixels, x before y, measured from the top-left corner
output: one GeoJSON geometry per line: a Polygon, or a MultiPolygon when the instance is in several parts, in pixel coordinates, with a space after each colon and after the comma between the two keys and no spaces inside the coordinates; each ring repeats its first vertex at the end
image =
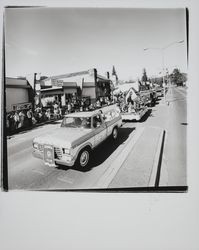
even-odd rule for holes
{"type": "Polygon", "coordinates": [[[33,156],[50,167],[78,165],[87,168],[92,150],[109,136],[116,140],[121,125],[116,105],[68,114],[56,131],[33,140],[33,156]]]}

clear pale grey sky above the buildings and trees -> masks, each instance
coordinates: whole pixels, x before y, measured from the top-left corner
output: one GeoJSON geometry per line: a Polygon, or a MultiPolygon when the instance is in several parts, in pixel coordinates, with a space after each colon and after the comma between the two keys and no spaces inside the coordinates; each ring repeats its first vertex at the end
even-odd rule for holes
{"type": "Polygon", "coordinates": [[[185,18],[185,9],[9,8],[6,76],[91,68],[105,75],[113,65],[120,80],[141,78],[143,68],[160,76],[163,51],[170,73],[175,67],[186,72],[185,18]]]}

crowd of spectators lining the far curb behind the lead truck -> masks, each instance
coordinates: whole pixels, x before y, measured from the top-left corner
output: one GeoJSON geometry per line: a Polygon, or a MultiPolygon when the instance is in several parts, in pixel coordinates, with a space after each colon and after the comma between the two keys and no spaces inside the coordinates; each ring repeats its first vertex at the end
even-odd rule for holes
{"type": "Polygon", "coordinates": [[[69,113],[101,108],[113,102],[114,100],[110,100],[108,97],[101,97],[95,103],[91,103],[89,99],[82,98],[81,100],[70,100],[64,107],[61,107],[58,102],[54,102],[47,107],[37,106],[34,110],[11,111],[7,113],[6,117],[7,134],[14,134],[17,131],[31,128],[47,121],[62,119],[64,115],[69,113]]]}

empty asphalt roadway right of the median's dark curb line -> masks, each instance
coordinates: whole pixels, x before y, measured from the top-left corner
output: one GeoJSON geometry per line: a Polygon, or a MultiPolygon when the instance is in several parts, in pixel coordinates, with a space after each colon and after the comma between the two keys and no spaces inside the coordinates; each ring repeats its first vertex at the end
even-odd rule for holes
{"type": "Polygon", "coordinates": [[[171,88],[161,186],[187,186],[187,91],[171,88]]]}

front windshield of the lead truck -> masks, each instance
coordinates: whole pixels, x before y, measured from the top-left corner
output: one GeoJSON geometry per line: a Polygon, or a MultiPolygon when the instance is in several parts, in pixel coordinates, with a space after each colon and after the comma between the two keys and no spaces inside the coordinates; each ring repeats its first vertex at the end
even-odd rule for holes
{"type": "Polygon", "coordinates": [[[61,127],[91,128],[91,117],[64,117],[61,127]]]}

